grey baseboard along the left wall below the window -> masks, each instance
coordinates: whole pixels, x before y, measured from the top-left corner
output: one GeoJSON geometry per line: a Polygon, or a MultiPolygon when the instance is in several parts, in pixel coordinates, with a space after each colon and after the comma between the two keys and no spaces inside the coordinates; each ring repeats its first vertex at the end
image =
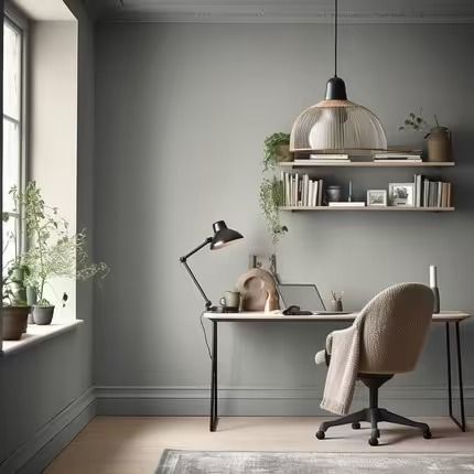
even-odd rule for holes
{"type": "Polygon", "coordinates": [[[73,400],[0,464],[0,474],[37,474],[95,417],[94,387],[73,400]]]}

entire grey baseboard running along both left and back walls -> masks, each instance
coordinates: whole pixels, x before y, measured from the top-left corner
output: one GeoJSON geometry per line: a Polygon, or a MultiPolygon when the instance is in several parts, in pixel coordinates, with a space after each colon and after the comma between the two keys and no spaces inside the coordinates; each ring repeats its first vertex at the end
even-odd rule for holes
{"type": "MultiPolygon", "coordinates": [[[[455,391],[454,391],[455,392],[455,391]]],[[[222,416],[321,416],[321,389],[223,387],[222,416]]],[[[466,414],[474,414],[474,386],[465,387],[466,414]]],[[[390,387],[381,402],[407,416],[446,414],[446,388],[390,387]]],[[[366,403],[366,394],[356,390],[354,409],[366,403]]],[[[207,416],[206,387],[90,387],[45,423],[29,441],[0,463],[0,474],[37,474],[96,416],[207,416]]]]}

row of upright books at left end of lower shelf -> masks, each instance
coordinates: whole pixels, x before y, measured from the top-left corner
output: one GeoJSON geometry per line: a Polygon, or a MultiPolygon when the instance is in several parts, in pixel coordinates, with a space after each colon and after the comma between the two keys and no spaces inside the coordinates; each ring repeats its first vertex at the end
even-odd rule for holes
{"type": "Polygon", "coordinates": [[[310,180],[308,174],[281,173],[284,206],[316,207],[323,203],[323,180],[310,180]]]}

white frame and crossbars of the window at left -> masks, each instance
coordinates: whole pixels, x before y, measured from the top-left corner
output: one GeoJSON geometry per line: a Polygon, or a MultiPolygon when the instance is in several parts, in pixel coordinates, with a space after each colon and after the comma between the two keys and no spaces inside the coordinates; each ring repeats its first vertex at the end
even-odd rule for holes
{"type": "MultiPolygon", "coordinates": [[[[20,90],[20,120],[8,116],[2,110],[3,120],[14,122],[20,128],[20,161],[19,161],[19,177],[20,191],[23,191],[26,185],[28,179],[28,52],[29,52],[29,22],[10,1],[6,0],[3,11],[3,22],[9,23],[13,29],[21,33],[21,90],[20,90]]],[[[3,32],[3,24],[2,24],[3,32]]],[[[3,126],[3,125],[2,125],[3,126]]],[[[3,212],[3,209],[2,209],[3,212]]],[[[7,213],[9,217],[15,218],[15,233],[17,233],[17,254],[21,254],[26,247],[26,236],[23,228],[23,211],[19,209],[18,213],[7,213]]],[[[4,262],[3,262],[4,265],[4,262]]]]}

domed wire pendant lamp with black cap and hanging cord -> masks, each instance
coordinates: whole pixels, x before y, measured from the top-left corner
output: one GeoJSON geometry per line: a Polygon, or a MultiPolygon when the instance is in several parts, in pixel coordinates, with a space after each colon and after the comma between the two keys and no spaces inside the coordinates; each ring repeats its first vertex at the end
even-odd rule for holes
{"type": "Polygon", "coordinates": [[[302,111],[293,123],[290,151],[370,152],[387,149],[380,120],[366,107],[347,100],[346,86],[337,77],[337,0],[334,0],[334,77],[326,97],[302,111]]]}

